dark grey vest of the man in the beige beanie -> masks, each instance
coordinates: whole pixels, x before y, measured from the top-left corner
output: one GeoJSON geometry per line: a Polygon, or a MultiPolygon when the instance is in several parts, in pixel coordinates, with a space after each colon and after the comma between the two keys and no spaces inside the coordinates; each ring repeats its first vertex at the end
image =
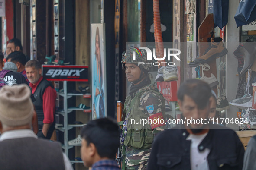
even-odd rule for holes
{"type": "Polygon", "coordinates": [[[0,142],[1,170],[65,170],[58,142],[33,137],[0,142]]]}

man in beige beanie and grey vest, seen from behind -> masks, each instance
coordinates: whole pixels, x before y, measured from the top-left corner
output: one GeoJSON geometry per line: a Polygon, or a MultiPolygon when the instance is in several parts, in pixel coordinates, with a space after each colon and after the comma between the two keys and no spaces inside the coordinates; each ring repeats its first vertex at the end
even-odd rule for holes
{"type": "Polygon", "coordinates": [[[0,167],[8,170],[72,170],[58,142],[38,139],[31,130],[33,104],[27,85],[0,90],[0,167]]]}

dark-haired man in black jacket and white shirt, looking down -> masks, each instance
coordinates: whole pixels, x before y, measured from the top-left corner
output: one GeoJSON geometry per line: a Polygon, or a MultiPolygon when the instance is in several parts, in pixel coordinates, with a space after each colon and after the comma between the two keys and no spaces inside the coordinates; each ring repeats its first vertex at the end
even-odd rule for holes
{"type": "Polygon", "coordinates": [[[242,169],[244,148],[237,134],[206,121],[211,104],[210,86],[190,79],[181,84],[177,96],[184,122],[156,136],[148,170],[242,169]]]}

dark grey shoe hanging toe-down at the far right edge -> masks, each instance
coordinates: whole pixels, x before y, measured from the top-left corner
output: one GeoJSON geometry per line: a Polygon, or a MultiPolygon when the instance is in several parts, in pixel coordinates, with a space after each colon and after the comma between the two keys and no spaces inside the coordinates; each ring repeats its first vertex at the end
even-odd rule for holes
{"type": "Polygon", "coordinates": [[[240,75],[243,75],[247,72],[248,69],[253,65],[256,55],[256,42],[247,42],[240,47],[240,52],[243,54],[243,68],[240,72],[240,75]]]}

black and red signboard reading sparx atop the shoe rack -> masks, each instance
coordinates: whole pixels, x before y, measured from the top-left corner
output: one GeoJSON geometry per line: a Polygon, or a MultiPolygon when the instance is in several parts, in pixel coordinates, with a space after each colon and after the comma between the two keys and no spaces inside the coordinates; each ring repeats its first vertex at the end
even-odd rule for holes
{"type": "Polygon", "coordinates": [[[42,65],[42,76],[49,81],[88,82],[88,66],[42,65]]]}

